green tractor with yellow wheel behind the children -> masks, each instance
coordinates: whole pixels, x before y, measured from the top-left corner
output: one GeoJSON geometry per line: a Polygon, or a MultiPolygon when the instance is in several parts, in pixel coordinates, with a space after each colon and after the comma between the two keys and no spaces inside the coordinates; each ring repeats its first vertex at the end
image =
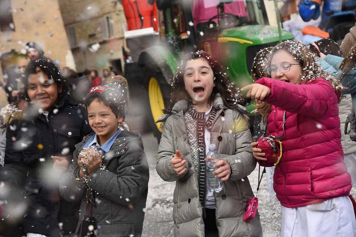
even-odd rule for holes
{"type": "MultiPolygon", "coordinates": [[[[156,0],[156,4],[165,37],[141,34],[140,42],[159,40],[140,50],[137,62],[126,63],[125,74],[130,97],[143,103],[139,112],[146,113],[146,124],[158,140],[161,124],[155,121],[169,104],[172,78],[186,53],[209,52],[229,68],[230,80],[241,88],[252,83],[251,65],[260,49],[293,39],[290,32],[269,25],[263,0],[156,0]]],[[[128,46],[131,49],[130,42],[128,46]]],[[[253,110],[251,103],[246,107],[253,110]]]]}

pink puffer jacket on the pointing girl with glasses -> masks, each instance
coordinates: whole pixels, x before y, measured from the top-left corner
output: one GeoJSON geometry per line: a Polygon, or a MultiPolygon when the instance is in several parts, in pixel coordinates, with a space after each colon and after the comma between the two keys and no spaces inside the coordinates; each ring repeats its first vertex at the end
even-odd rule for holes
{"type": "Polygon", "coordinates": [[[267,133],[282,134],[283,155],[274,170],[273,188],[283,206],[295,208],[349,195],[351,177],[344,162],[337,97],[323,78],[297,85],[263,77],[263,101],[272,104],[267,133]]]}

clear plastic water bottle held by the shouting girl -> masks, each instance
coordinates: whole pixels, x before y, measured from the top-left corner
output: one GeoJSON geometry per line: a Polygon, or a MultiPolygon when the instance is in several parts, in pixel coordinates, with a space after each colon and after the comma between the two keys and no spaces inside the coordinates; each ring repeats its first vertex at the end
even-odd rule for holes
{"type": "Polygon", "coordinates": [[[206,155],[205,163],[206,163],[206,186],[208,187],[211,193],[216,192],[219,193],[223,190],[223,182],[219,178],[215,178],[213,171],[218,169],[219,167],[214,168],[216,162],[220,160],[220,155],[216,153],[215,144],[209,145],[209,152],[206,155]]]}

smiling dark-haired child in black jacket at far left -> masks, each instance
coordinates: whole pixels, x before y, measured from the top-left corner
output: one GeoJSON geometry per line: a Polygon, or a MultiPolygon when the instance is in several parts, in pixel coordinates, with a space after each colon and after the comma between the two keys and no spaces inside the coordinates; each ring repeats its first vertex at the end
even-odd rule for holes
{"type": "Polygon", "coordinates": [[[7,127],[0,179],[5,187],[25,190],[22,227],[27,237],[67,235],[75,230],[78,204],[60,199],[58,181],[72,161],[74,145],[91,132],[87,114],[68,101],[66,81],[49,59],[32,60],[24,84],[30,107],[22,120],[7,127]]]}

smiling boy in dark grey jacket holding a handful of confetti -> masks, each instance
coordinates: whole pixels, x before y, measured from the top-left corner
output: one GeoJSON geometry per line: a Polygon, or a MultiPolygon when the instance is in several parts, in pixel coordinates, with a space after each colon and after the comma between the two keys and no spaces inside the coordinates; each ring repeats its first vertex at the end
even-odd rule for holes
{"type": "Polygon", "coordinates": [[[98,236],[141,236],[148,163],[141,135],[118,129],[126,116],[126,93],[125,85],[114,81],[94,87],[85,98],[95,133],[76,145],[59,185],[64,199],[81,200],[78,236],[91,231],[98,236]],[[95,221],[88,223],[87,217],[95,221]]]}

